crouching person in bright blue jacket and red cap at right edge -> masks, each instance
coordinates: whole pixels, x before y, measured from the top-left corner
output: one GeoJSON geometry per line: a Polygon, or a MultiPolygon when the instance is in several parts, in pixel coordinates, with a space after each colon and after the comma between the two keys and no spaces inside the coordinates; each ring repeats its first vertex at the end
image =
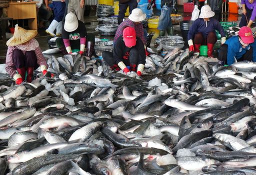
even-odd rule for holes
{"type": "Polygon", "coordinates": [[[247,26],[241,27],[238,36],[227,39],[219,49],[218,65],[230,65],[234,63],[234,59],[256,62],[256,41],[247,26]]]}

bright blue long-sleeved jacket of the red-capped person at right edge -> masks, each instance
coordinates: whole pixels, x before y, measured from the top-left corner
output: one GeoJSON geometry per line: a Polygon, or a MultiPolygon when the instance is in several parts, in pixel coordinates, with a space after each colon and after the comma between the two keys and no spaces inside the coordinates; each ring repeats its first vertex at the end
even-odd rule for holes
{"type": "Polygon", "coordinates": [[[225,41],[225,44],[227,44],[227,64],[230,65],[234,63],[234,57],[238,60],[242,57],[242,55],[246,52],[247,49],[250,49],[250,47],[253,48],[252,53],[252,60],[253,62],[256,61],[256,42],[250,43],[245,48],[242,47],[238,36],[232,36],[229,39],[225,41]],[[255,49],[255,51],[254,51],[255,49]]]}

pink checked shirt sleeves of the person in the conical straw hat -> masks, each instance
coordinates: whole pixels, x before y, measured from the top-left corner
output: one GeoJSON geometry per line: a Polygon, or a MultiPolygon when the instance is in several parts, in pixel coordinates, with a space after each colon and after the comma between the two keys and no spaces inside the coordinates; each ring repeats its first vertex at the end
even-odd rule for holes
{"type": "MultiPolygon", "coordinates": [[[[16,46],[8,46],[7,49],[7,54],[6,54],[6,59],[5,59],[5,70],[7,71],[7,73],[12,77],[15,73],[16,73],[16,67],[15,64],[13,62],[13,50],[15,49],[19,49],[16,46]]],[[[21,50],[21,49],[19,49],[21,50]]],[[[21,50],[23,52],[23,54],[25,54],[25,50],[21,50]]],[[[40,47],[36,47],[35,50],[35,55],[36,55],[36,59],[37,59],[37,64],[40,65],[45,65],[47,66],[46,60],[42,55],[42,50],[40,47]]]]}

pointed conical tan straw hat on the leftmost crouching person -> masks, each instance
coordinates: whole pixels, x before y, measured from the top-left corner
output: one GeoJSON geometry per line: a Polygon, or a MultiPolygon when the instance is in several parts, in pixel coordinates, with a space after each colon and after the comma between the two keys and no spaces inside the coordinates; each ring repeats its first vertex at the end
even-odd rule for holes
{"type": "Polygon", "coordinates": [[[9,40],[7,40],[6,45],[7,46],[14,46],[18,44],[22,44],[36,36],[37,31],[36,30],[26,30],[18,24],[15,25],[14,33],[9,40]]]}

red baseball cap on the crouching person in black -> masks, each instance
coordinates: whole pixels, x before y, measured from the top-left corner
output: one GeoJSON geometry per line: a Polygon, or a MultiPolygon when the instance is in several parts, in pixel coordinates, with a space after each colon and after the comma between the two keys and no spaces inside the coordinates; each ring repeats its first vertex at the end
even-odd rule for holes
{"type": "Polygon", "coordinates": [[[124,44],[127,47],[132,47],[136,45],[136,32],[133,27],[128,26],[124,28],[122,32],[122,37],[123,37],[124,44]]]}

